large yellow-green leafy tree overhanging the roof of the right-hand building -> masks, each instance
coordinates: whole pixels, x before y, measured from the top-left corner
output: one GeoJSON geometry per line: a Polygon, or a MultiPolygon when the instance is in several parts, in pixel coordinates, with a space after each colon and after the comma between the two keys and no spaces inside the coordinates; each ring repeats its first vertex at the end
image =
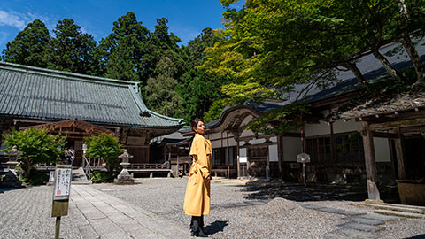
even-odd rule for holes
{"type": "Polygon", "coordinates": [[[240,10],[232,7],[236,2],[221,0],[227,8],[223,13],[226,29],[217,35],[226,40],[206,50],[207,60],[201,66],[232,79],[222,87],[232,104],[282,98],[283,93],[298,90],[300,85],[326,86],[336,80],[336,68],[352,71],[369,89],[356,63],[370,53],[394,79],[406,81],[378,51],[390,42],[402,43],[413,60],[417,81],[422,81],[423,64],[411,37],[423,35],[423,16],[412,18],[423,15],[423,0],[409,4],[390,0],[251,0],[240,10]]]}

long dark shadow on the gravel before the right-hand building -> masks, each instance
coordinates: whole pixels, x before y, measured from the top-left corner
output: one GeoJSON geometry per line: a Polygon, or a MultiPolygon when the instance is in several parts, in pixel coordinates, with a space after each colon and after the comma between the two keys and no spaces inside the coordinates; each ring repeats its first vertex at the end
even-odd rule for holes
{"type": "MultiPolygon", "coordinates": [[[[261,184],[252,183],[243,186],[243,191],[251,192],[245,198],[265,200],[282,197],[292,201],[364,201],[367,199],[366,185],[359,184],[319,184],[311,183],[305,188],[303,184],[261,184]]],[[[395,186],[382,187],[381,198],[388,203],[398,203],[398,189],[395,186]]]]}

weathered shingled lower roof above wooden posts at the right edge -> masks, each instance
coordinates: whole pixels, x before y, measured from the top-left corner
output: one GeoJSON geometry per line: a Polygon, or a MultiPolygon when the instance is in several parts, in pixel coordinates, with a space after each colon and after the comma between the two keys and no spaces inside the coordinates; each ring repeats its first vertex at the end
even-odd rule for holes
{"type": "Polygon", "coordinates": [[[366,96],[359,97],[329,115],[328,119],[348,120],[383,113],[402,112],[420,107],[425,107],[425,88],[423,87],[369,99],[366,96]]]}

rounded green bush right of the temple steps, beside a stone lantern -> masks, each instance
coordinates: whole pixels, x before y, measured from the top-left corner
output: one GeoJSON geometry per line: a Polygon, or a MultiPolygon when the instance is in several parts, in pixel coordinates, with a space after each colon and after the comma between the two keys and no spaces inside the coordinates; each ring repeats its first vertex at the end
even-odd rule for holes
{"type": "Polygon", "coordinates": [[[118,158],[123,150],[118,143],[118,138],[106,133],[100,135],[91,135],[84,138],[87,144],[86,156],[89,158],[103,158],[108,172],[120,168],[120,159],[118,158]]]}

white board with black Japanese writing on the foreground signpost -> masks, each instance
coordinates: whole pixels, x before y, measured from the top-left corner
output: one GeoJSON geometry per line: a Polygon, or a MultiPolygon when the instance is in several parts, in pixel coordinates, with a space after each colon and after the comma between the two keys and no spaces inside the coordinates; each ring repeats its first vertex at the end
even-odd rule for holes
{"type": "Polygon", "coordinates": [[[71,166],[57,166],[55,171],[55,188],[53,189],[53,200],[64,200],[69,198],[71,192],[71,166]]]}

